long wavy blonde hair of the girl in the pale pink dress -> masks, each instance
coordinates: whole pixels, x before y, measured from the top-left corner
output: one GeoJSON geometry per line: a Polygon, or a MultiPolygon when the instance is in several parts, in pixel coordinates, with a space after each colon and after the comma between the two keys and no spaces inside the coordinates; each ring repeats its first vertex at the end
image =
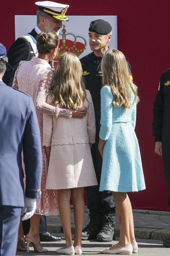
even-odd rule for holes
{"type": "Polygon", "coordinates": [[[76,109],[82,106],[86,98],[81,62],[71,52],[60,57],[51,89],[52,105],[61,108],[76,109]]]}

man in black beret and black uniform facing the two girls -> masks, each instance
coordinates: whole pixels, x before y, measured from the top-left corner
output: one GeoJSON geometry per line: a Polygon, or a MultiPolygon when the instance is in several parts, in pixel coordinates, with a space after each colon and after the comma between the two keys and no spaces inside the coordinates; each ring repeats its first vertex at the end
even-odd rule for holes
{"type": "MultiPolygon", "coordinates": [[[[86,89],[91,92],[96,118],[96,142],[92,145],[91,154],[95,167],[98,185],[86,187],[87,207],[90,222],[83,229],[81,239],[98,241],[112,241],[115,239],[116,206],[111,191],[99,192],[102,172],[102,158],[98,151],[100,132],[100,90],[102,88],[101,62],[103,54],[109,49],[108,43],[112,38],[112,28],[105,20],[94,20],[89,26],[89,46],[93,51],[81,58],[83,76],[86,89]]],[[[130,65],[127,63],[129,72],[130,65]]]]}

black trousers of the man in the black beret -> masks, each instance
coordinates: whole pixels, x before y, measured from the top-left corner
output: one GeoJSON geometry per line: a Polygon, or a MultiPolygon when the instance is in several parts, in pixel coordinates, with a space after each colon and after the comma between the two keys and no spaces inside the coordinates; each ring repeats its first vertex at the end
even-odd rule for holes
{"type": "Polygon", "coordinates": [[[102,157],[100,156],[98,150],[98,141],[99,138],[97,137],[96,142],[92,145],[91,148],[91,154],[98,185],[89,186],[85,189],[87,195],[87,207],[89,209],[89,212],[101,218],[102,214],[107,215],[109,212],[112,212],[114,215],[116,215],[116,205],[111,191],[99,191],[102,172],[102,157]]]}

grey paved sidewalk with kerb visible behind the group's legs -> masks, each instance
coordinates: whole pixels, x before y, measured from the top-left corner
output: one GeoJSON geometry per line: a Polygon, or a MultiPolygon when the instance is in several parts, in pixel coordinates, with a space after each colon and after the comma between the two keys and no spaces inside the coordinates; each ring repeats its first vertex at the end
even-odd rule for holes
{"type": "MultiPolygon", "coordinates": [[[[89,223],[89,210],[85,208],[84,227],[89,223]]],[[[170,212],[133,210],[135,236],[139,239],[163,240],[170,237],[170,212]]],[[[119,225],[116,216],[116,236],[119,236],[119,225]]],[[[47,216],[49,232],[62,233],[60,216],[47,216]]],[[[73,206],[71,206],[72,233],[74,233],[73,206]]],[[[170,255],[170,253],[169,253],[170,255]]]]}

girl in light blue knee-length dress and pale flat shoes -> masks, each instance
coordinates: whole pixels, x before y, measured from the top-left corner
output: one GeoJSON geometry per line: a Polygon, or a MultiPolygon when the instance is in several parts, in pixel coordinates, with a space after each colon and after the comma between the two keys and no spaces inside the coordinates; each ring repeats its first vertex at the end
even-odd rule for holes
{"type": "Polygon", "coordinates": [[[131,202],[127,192],[145,189],[135,134],[137,87],[130,79],[124,54],[109,50],[102,60],[101,128],[99,152],[103,158],[100,191],[112,191],[120,226],[119,242],[100,253],[138,252],[131,202]]]}

